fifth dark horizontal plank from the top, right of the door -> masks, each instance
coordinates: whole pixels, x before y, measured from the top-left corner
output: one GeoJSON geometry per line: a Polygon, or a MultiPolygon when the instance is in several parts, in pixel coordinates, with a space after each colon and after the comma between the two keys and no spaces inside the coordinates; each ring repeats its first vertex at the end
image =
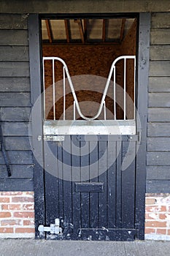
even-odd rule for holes
{"type": "Polygon", "coordinates": [[[150,92],[170,92],[170,77],[150,77],[150,92]]]}

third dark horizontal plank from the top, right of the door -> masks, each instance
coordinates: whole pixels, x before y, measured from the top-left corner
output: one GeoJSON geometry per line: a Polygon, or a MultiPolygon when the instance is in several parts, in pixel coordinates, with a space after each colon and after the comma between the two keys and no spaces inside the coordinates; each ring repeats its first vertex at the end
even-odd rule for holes
{"type": "Polygon", "coordinates": [[[151,61],[169,61],[170,45],[150,45],[151,61]]]}

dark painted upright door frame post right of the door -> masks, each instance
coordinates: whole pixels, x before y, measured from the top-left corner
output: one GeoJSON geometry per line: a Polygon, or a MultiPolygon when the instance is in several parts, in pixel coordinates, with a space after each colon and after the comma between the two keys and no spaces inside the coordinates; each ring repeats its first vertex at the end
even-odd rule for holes
{"type": "Polygon", "coordinates": [[[139,53],[138,53],[138,97],[137,109],[140,123],[137,132],[141,141],[137,143],[136,154],[136,195],[135,222],[139,226],[139,239],[144,239],[145,187],[146,187],[146,138],[147,138],[147,88],[150,49],[150,13],[139,15],[139,53]],[[144,60],[144,61],[143,61],[144,60]],[[146,102],[146,104],[144,104],[146,102]]]}

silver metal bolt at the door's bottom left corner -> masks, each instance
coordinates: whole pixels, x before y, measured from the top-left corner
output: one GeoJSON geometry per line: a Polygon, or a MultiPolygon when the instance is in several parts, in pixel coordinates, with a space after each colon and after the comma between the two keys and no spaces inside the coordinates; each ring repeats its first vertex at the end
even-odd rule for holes
{"type": "Polygon", "coordinates": [[[43,235],[44,232],[50,232],[50,234],[61,235],[62,228],[60,227],[60,219],[55,219],[55,224],[50,224],[50,227],[39,225],[38,230],[40,235],[43,235]]]}

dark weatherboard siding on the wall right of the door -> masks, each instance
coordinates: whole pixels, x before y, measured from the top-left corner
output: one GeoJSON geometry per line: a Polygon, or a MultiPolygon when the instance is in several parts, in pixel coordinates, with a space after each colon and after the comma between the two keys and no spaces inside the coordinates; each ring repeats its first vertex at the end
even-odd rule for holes
{"type": "Polygon", "coordinates": [[[147,124],[147,192],[170,192],[170,12],[153,13],[147,124]]]}

